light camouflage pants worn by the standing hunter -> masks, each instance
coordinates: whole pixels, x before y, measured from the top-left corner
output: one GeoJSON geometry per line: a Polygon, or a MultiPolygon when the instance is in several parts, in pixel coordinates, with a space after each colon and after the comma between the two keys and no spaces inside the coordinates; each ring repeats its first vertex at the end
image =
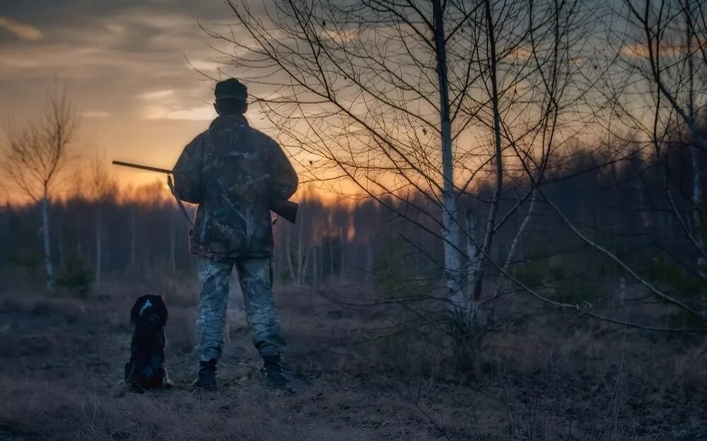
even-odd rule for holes
{"type": "Polygon", "coordinates": [[[200,361],[219,360],[226,328],[226,308],[230,275],[235,266],[245,302],[248,329],[260,355],[278,355],[286,349],[280,336],[280,322],[272,296],[271,260],[267,257],[242,257],[216,261],[199,257],[199,343],[194,352],[200,361]]]}

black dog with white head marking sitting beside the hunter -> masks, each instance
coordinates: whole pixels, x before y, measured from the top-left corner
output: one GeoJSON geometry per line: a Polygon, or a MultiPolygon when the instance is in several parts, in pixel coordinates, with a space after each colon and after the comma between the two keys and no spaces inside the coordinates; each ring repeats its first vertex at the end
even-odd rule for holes
{"type": "Polygon", "coordinates": [[[172,386],[165,369],[167,315],[161,295],[143,295],[130,310],[130,322],[135,329],[130,360],[125,364],[125,384],[135,392],[172,386]]]}

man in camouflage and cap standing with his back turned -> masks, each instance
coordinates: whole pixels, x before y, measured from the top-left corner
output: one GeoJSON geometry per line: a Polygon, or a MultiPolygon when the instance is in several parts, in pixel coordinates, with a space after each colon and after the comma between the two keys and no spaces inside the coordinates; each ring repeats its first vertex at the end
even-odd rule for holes
{"type": "Polygon", "coordinates": [[[248,125],[246,87],[216,84],[218,117],[182,152],[174,167],[175,196],[199,204],[189,248],[199,257],[199,377],[194,389],[216,391],[230,275],[235,266],[248,327],[264,361],[266,382],[286,387],[280,354],[286,343],[272,295],[274,240],[269,201],[297,189],[295,170],[278,144],[248,125]]]}

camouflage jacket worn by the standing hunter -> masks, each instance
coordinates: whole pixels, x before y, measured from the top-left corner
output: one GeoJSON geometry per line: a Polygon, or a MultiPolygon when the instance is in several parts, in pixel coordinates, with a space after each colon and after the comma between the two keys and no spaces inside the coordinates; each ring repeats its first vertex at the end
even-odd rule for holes
{"type": "Polygon", "coordinates": [[[220,116],[185,147],[173,174],[175,195],[199,204],[189,231],[192,254],[272,255],[269,201],[289,199],[298,184],[273,139],[252,129],[245,117],[220,116]]]}

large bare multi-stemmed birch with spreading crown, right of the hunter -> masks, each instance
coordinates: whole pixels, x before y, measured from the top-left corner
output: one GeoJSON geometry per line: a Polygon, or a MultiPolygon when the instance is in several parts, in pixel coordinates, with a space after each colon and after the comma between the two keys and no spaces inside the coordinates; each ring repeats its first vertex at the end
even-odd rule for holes
{"type": "Polygon", "coordinates": [[[528,78],[538,78],[553,47],[573,47],[557,35],[566,27],[547,23],[576,24],[578,3],[561,2],[563,13],[558,2],[520,0],[229,4],[237,19],[231,33],[207,32],[233,45],[235,56],[223,55],[247,72],[241,79],[267,88],[256,102],[279,141],[298,151],[305,179],[337,192],[345,180],[349,192],[440,240],[448,314],[455,332],[469,334],[479,322],[485,266],[493,267],[503,153],[551,120],[541,112],[530,122],[523,113],[538,100],[528,78]],[[460,196],[487,180],[493,195],[477,243],[460,196]]]}

